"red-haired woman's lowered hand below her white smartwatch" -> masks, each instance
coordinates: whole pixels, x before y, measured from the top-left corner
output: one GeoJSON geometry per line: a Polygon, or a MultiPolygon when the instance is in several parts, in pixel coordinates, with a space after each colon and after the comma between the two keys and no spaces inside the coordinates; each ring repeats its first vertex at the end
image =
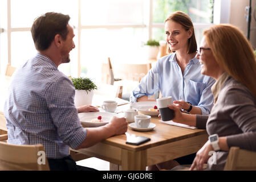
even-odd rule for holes
{"type": "Polygon", "coordinates": [[[190,167],[190,171],[196,168],[198,171],[203,169],[205,163],[208,162],[210,158],[209,152],[213,151],[212,144],[210,144],[209,140],[202,146],[202,148],[197,152],[196,158],[194,158],[193,164],[190,167]]]}

